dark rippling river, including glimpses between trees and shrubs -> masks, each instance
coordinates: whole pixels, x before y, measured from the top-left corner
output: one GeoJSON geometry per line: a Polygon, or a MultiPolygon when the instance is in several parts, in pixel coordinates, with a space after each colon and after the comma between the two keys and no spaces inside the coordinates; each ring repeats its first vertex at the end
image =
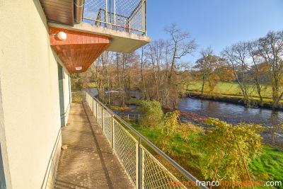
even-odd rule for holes
{"type": "MultiPolygon", "coordinates": [[[[93,96],[96,96],[96,89],[88,89],[93,96]]],[[[135,98],[137,99],[137,98],[135,98]]],[[[262,124],[263,127],[270,127],[283,122],[283,111],[270,110],[265,108],[246,108],[244,105],[233,103],[224,103],[219,101],[209,101],[197,98],[180,98],[177,110],[183,110],[189,113],[195,113],[207,118],[218,118],[219,120],[231,123],[246,122],[262,124]]],[[[129,116],[130,118],[139,118],[142,114],[137,110],[136,105],[130,105],[128,110],[113,110],[118,115],[129,116]]],[[[184,117],[181,119],[187,120],[184,117]]],[[[195,122],[195,120],[191,120],[195,122]]],[[[197,122],[200,123],[200,122],[197,122]]],[[[263,141],[269,143],[271,139],[270,131],[262,132],[263,141]]],[[[283,147],[283,134],[277,132],[275,142],[283,147]]]]}

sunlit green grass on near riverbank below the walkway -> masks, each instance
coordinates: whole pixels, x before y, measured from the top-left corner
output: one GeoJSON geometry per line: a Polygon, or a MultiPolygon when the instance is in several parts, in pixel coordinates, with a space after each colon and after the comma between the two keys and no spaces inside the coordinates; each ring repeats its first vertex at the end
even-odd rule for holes
{"type": "MultiPolygon", "coordinates": [[[[149,141],[156,144],[156,146],[161,149],[161,143],[157,142],[158,136],[161,133],[160,131],[140,127],[137,121],[129,120],[128,122],[129,125],[132,125],[135,130],[144,135],[144,137],[149,139],[149,141]]],[[[127,130],[134,136],[132,131],[130,131],[129,129],[127,130]]],[[[188,147],[187,142],[185,142],[184,139],[180,137],[180,133],[176,132],[173,137],[171,137],[171,144],[173,145],[171,146],[172,150],[169,156],[171,156],[174,161],[183,166],[187,171],[192,173],[192,175],[194,175],[196,178],[202,178],[202,175],[200,174],[200,167],[196,165],[198,158],[200,158],[202,155],[200,153],[197,153],[199,147],[196,143],[195,137],[197,136],[195,135],[196,134],[190,134],[190,147],[188,147]],[[190,153],[191,151],[193,151],[193,153],[190,153]],[[183,155],[179,156],[180,154],[183,155]]],[[[143,145],[144,147],[146,147],[145,144],[143,145]]],[[[149,149],[149,147],[146,147],[146,149],[148,149],[152,154],[155,154],[155,152],[149,149]]],[[[248,166],[250,171],[253,171],[257,176],[260,176],[260,178],[256,178],[257,181],[282,181],[283,184],[283,151],[281,149],[264,145],[262,154],[258,156],[258,158],[254,159],[248,166]],[[271,177],[268,178],[266,173],[271,177]]],[[[277,188],[283,188],[283,186],[277,188]]]]}

